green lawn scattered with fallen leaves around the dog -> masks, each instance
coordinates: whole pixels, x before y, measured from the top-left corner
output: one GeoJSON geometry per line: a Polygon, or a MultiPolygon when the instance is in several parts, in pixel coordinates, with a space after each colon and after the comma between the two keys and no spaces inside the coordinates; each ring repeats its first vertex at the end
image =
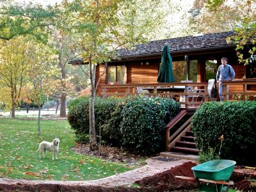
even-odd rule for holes
{"type": "Polygon", "coordinates": [[[67,120],[42,120],[38,136],[36,120],[0,118],[0,177],[36,180],[92,180],[131,170],[121,163],[111,163],[76,154],[74,134],[67,120]],[[51,152],[39,159],[41,141],[60,138],[58,160],[51,152]]]}

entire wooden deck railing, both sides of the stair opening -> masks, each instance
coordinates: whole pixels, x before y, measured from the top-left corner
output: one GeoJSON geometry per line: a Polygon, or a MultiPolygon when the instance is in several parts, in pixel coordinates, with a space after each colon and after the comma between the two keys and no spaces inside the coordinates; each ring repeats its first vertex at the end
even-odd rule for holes
{"type": "MultiPolygon", "coordinates": [[[[256,90],[248,90],[248,86],[255,85],[256,79],[226,81],[224,86],[236,86],[238,91],[223,92],[225,99],[227,95],[238,95],[241,100],[255,99],[256,90]],[[242,90],[242,91],[241,91],[242,90]]],[[[145,97],[166,97],[176,99],[182,104],[182,108],[198,107],[203,102],[209,101],[207,83],[144,83],[144,84],[103,84],[102,97],[116,96],[124,97],[127,95],[144,95],[145,97]],[[184,92],[180,92],[184,88],[184,92]],[[177,91],[175,91],[177,90],[177,91]],[[182,98],[182,99],[180,99],[182,98]]],[[[231,88],[230,88],[231,90],[231,88]]],[[[232,98],[229,98],[232,99],[232,98]]]]}

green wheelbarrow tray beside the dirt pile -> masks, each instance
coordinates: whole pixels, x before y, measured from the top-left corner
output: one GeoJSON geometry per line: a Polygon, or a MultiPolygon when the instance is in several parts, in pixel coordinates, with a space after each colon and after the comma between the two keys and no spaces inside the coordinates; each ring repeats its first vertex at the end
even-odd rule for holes
{"type": "Polygon", "coordinates": [[[198,164],[191,169],[197,179],[228,180],[235,164],[236,161],[220,159],[198,164]]]}

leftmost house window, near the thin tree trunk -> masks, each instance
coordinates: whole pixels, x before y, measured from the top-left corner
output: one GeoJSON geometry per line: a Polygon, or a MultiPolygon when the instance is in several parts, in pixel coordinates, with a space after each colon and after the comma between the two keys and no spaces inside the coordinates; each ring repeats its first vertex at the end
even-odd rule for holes
{"type": "Polygon", "coordinates": [[[107,83],[118,82],[118,84],[126,83],[126,67],[125,65],[109,65],[107,70],[107,83]]]}

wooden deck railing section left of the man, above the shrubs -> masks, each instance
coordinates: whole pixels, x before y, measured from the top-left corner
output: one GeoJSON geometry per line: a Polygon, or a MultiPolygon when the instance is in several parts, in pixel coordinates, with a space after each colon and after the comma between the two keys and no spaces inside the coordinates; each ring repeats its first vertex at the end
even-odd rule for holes
{"type": "Polygon", "coordinates": [[[182,108],[199,106],[209,100],[207,83],[104,84],[101,88],[102,97],[140,94],[145,97],[166,97],[178,100],[182,108]]]}

